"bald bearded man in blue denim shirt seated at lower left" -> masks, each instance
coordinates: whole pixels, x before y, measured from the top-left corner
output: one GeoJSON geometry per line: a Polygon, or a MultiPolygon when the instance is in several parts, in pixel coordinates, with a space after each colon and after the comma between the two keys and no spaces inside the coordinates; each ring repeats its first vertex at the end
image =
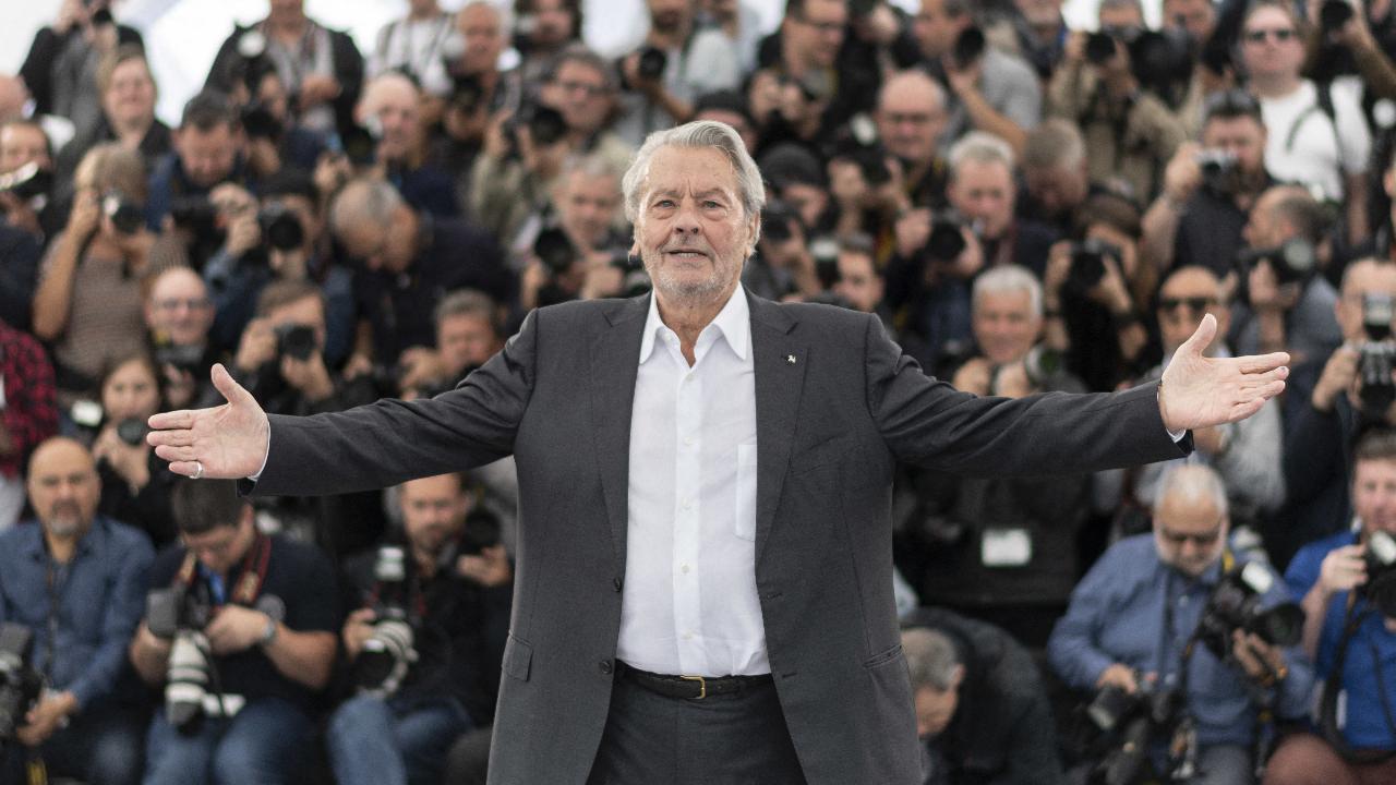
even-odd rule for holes
{"type": "Polygon", "coordinates": [[[28,753],[50,775],[134,784],[141,725],[119,684],[144,608],[151,543],[96,514],[96,465],[71,439],[35,450],[28,487],[38,524],[0,534],[0,623],[34,634],[32,665],[47,690],[20,719],[20,746],[6,749],[0,779],[24,781],[28,753]]]}

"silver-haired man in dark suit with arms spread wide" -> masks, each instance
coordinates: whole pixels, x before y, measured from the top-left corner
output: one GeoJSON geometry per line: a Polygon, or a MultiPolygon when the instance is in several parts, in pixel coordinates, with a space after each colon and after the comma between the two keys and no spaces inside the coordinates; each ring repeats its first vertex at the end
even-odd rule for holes
{"type": "Polygon", "coordinates": [[[233,404],[152,418],[174,472],[255,476],[260,494],[515,455],[496,782],[913,782],[886,559],[895,461],[998,474],[1168,458],[1182,450],[1170,430],[1247,416],[1284,386],[1283,355],[1203,358],[1208,320],[1161,390],[956,392],[874,316],[738,288],[764,189],[730,127],[651,137],[623,190],[653,296],[539,309],[430,401],[268,419],[215,370],[233,404]]]}

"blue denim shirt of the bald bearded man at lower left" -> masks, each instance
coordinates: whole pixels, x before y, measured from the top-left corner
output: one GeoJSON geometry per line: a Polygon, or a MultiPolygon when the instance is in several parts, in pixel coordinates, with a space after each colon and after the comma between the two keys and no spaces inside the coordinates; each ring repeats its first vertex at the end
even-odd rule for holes
{"type": "Polygon", "coordinates": [[[35,669],[70,690],[81,708],[112,693],[126,647],[145,610],[154,552],[140,531],[98,515],[73,560],[56,566],[57,640],[49,636],[49,549],[36,521],[0,534],[0,622],[34,631],[35,669]],[[52,643],[52,647],[50,647],[52,643]]]}

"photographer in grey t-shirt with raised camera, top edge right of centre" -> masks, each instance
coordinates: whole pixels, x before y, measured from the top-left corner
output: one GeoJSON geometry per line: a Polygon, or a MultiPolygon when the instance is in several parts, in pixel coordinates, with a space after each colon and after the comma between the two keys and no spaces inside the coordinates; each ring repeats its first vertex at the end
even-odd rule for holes
{"type": "Polygon", "coordinates": [[[955,96],[945,138],[970,129],[1002,137],[1022,155],[1041,119],[1041,84],[1022,57],[984,43],[969,0],[920,0],[912,31],[927,67],[955,96]],[[977,43],[977,46],[976,46],[977,43]]]}

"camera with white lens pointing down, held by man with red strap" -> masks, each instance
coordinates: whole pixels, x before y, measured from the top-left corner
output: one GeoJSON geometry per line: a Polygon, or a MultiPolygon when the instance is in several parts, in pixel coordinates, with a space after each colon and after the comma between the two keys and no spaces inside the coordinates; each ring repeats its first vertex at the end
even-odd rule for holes
{"type": "Polygon", "coordinates": [[[145,626],[158,638],[170,640],[165,675],[165,719],[180,733],[202,725],[204,704],[214,679],[212,648],[204,627],[214,615],[208,587],[173,585],[145,596],[145,626]]]}

